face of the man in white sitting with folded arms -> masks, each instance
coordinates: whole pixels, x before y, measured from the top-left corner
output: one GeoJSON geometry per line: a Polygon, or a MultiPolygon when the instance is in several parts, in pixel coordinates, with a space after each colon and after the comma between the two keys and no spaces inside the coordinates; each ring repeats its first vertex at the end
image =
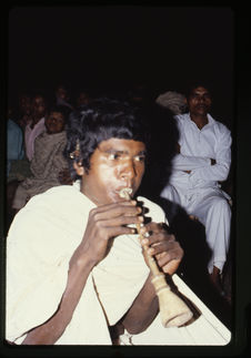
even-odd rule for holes
{"type": "Polygon", "coordinates": [[[195,88],[189,95],[188,108],[190,114],[207,115],[212,104],[209,91],[203,86],[195,88]]]}

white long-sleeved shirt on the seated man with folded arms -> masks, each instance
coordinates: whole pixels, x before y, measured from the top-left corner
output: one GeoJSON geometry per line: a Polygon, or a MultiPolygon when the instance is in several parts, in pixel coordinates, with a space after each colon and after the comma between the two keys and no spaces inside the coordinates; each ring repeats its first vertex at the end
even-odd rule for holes
{"type": "Polygon", "coordinates": [[[230,170],[231,132],[210,114],[208,124],[201,130],[189,113],[179,114],[175,120],[180,134],[180,154],[172,161],[170,184],[189,190],[218,187],[218,182],[225,181],[230,170]],[[211,165],[211,158],[217,164],[211,165]]]}

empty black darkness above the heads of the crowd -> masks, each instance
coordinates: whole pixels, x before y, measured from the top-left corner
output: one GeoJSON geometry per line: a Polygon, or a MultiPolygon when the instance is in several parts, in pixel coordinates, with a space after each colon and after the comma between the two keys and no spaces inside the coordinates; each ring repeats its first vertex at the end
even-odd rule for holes
{"type": "Polygon", "coordinates": [[[144,83],[160,94],[199,79],[213,85],[212,114],[231,126],[235,17],[231,7],[13,7],[9,93],[144,83]]]}

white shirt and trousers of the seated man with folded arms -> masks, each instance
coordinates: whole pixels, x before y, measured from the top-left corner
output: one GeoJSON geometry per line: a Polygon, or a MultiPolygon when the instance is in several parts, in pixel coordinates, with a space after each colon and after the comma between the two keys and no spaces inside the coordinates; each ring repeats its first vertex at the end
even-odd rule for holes
{"type": "Polygon", "coordinates": [[[181,205],[205,226],[205,236],[212,250],[208,264],[222,270],[230,239],[230,196],[219,182],[225,181],[231,164],[231,133],[225,125],[208,114],[209,123],[201,130],[190,114],[177,115],[180,154],[172,161],[172,174],[161,197],[181,205]],[[211,165],[211,158],[217,164],[211,165]],[[191,171],[190,174],[184,171],[191,171]]]}

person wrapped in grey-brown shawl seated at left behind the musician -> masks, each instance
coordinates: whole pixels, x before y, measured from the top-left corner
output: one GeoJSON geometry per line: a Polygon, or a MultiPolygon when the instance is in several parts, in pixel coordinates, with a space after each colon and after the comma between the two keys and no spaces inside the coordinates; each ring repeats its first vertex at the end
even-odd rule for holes
{"type": "Polygon", "coordinates": [[[60,185],[60,173],[68,167],[63,156],[67,144],[64,124],[66,110],[62,106],[53,106],[46,116],[46,132],[34,141],[34,154],[30,170],[32,175],[27,177],[18,186],[12,207],[19,211],[34,195],[60,185]]]}

